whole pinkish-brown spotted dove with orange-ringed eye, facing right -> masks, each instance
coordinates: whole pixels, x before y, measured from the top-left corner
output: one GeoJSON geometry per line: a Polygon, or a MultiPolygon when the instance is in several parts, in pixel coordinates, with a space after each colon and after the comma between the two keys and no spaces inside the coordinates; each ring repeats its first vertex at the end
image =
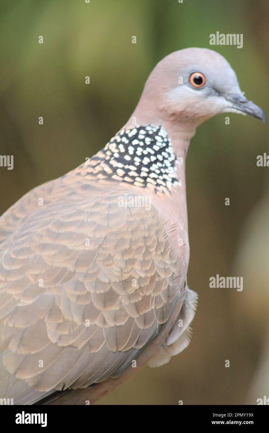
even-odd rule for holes
{"type": "Polygon", "coordinates": [[[0,398],[93,404],[188,346],[187,149],[228,112],[265,121],[222,55],[173,52],[103,149],[1,216],[0,398]]]}

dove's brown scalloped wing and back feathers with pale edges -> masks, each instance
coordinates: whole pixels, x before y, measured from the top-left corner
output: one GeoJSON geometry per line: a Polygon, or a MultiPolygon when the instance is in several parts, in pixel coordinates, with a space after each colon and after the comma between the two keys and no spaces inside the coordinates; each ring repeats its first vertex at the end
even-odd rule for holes
{"type": "Polygon", "coordinates": [[[0,219],[0,396],[16,404],[120,374],[179,293],[159,211],[119,207],[81,171],[0,219]]]}

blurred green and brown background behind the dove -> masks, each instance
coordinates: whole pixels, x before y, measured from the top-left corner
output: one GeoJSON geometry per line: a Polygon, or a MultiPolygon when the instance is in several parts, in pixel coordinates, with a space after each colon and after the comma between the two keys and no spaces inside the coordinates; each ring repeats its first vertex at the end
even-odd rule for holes
{"type": "MultiPolygon", "coordinates": [[[[156,62],[175,50],[224,55],[246,97],[269,117],[267,0],[6,0],[0,16],[0,154],[14,155],[13,170],[0,168],[0,213],[104,147],[156,62]],[[210,46],[216,31],[243,33],[243,48],[210,46]]],[[[190,346],[97,404],[269,397],[269,168],[256,166],[268,150],[268,126],[229,117],[230,125],[219,115],[200,126],[187,157],[188,285],[199,294],[190,346]],[[210,289],[216,274],[243,276],[243,291],[210,289]]]]}

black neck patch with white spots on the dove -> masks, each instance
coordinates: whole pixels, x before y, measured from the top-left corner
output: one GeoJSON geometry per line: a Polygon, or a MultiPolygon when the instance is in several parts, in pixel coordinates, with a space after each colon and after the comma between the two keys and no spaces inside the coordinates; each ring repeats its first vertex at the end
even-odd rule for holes
{"type": "Polygon", "coordinates": [[[95,178],[112,178],[169,193],[178,185],[173,153],[167,131],[161,126],[121,129],[108,144],[93,156],[88,173],[95,178]]]}

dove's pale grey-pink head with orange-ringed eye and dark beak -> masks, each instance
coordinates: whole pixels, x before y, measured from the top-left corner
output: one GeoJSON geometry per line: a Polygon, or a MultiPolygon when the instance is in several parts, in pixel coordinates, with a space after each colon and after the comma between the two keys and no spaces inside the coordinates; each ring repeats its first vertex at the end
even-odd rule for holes
{"type": "Polygon", "coordinates": [[[150,74],[143,97],[148,105],[154,101],[160,117],[196,126],[228,112],[266,120],[263,110],[244,97],[228,61],[206,48],[186,48],[162,59],[150,74]]]}

